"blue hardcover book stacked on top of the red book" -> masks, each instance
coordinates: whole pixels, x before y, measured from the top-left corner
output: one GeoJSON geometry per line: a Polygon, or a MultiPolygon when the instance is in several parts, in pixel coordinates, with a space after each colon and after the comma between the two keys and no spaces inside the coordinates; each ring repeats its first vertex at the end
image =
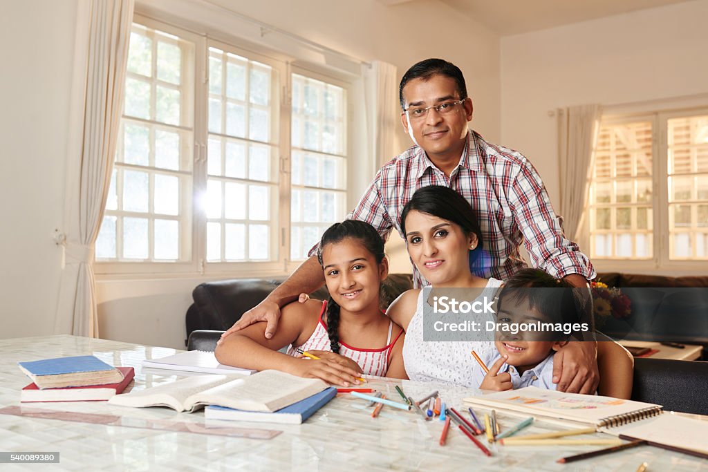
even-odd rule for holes
{"type": "Polygon", "coordinates": [[[64,388],[119,383],[123,374],[94,356],[57,357],[18,362],[39,388],[64,388]]]}

